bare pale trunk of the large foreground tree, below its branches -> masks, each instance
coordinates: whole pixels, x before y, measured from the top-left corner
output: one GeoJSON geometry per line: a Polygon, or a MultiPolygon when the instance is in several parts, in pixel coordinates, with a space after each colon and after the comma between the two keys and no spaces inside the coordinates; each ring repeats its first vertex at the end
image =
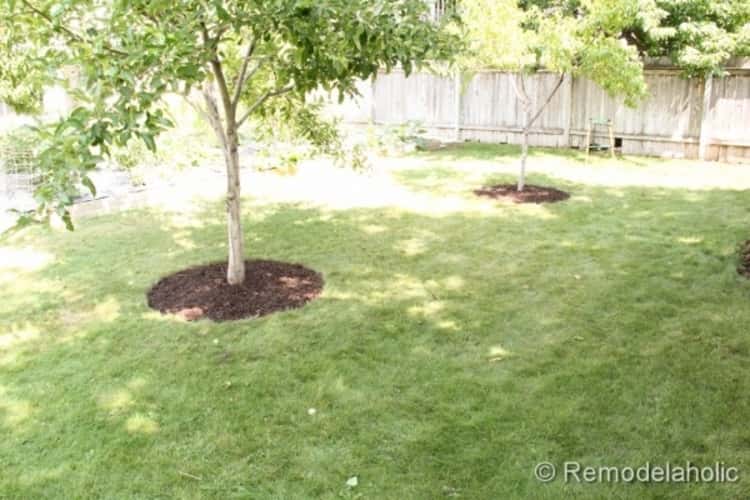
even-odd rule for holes
{"type": "Polygon", "coordinates": [[[229,235],[227,281],[230,285],[241,285],[245,281],[245,244],[242,235],[240,156],[236,126],[228,127],[226,149],[227,228],[229,235]]]}

